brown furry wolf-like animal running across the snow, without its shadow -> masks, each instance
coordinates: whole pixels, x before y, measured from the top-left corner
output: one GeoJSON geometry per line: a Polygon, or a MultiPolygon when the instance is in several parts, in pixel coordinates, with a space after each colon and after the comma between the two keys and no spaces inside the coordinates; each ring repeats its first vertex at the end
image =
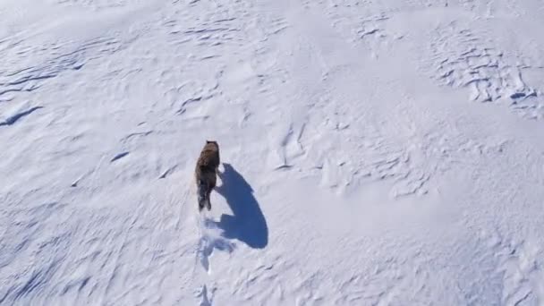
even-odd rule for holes
{"type": "Polygon", "coordinates": [[[211,209],[209,194],[216,187],[217,168],[219,167],[219,145],[217,141],[206,140],[200,152],[194,174],[199,192],[199,211],[206,206],[211,209]]]}

